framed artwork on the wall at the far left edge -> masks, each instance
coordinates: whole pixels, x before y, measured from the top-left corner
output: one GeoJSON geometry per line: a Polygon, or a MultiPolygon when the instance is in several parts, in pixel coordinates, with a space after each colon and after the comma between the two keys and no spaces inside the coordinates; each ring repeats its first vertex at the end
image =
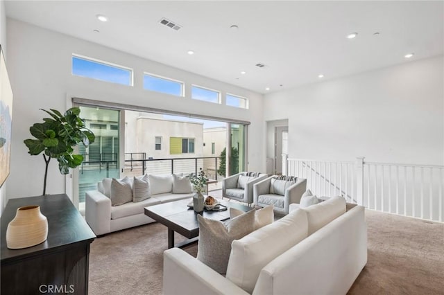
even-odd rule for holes
{"type": "Polygon", "coordinates": [[[0,187],[8,178],[11,155],[12,88],[0,46],[0,187]]]}

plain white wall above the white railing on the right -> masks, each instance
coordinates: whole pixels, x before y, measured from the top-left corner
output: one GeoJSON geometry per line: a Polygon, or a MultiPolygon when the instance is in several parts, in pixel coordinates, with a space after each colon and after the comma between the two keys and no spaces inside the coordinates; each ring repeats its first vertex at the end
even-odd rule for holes
{"type": "Polygon", "coordinates": [[[264,98],[289,118],[289,156],[444,165],[443,56],[308,84],[264,98]]]}

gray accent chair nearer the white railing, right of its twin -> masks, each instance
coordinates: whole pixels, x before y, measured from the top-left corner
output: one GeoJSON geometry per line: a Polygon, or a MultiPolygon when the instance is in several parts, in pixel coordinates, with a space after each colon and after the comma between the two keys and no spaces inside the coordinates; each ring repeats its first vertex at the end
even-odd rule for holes
{"type": "Polygon", "coordinates": [[[273,175],[253,186],[253,202],[265,207],[273,204],[276,213],[288,214],[290,204],[299,204],[307,188],[307,179],[296,178],[296,181],[278,180],[273,175]]]}

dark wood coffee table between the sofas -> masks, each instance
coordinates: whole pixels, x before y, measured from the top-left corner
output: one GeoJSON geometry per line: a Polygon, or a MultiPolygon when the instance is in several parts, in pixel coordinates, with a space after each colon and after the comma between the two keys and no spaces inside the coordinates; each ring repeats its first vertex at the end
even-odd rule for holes
{"type": "MultiPolygon", "coordinates": [[[[187,244],[196,242],[199,235],[199,223],[197,221],[198,213],[194,212],[192,208],[189,208],[187,204],[192,199],[181,199],[179,201],[168,202],[164,204],[145,207],[145,215],[153,218],[153,220],[164,224],[168,228],[168,248],[184,247],[187,244]],[[180,233],[189,240],[174,244],[174,232],[180,233]]],[[[221,199],[218,201],[227,206],[225,211],[203,211],[199,213],[203,217],[210,218],[212,220],[228,220],[230,219],[230,207],[237,208],[241,211],[248,212],[253,208],[235,203],[226,202],[221,199]]]]}

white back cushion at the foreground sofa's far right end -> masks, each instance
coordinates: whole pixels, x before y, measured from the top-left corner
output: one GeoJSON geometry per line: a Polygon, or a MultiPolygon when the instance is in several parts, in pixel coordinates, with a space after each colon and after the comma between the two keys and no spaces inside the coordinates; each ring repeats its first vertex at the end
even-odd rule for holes
{"type": "Polygon", "coordinates": [[[308,234],[311,235],[311,233],[345,213],[345,199],[343,197],[332,197],[325,202],[300,210],[307,212],[308,234]]]}

